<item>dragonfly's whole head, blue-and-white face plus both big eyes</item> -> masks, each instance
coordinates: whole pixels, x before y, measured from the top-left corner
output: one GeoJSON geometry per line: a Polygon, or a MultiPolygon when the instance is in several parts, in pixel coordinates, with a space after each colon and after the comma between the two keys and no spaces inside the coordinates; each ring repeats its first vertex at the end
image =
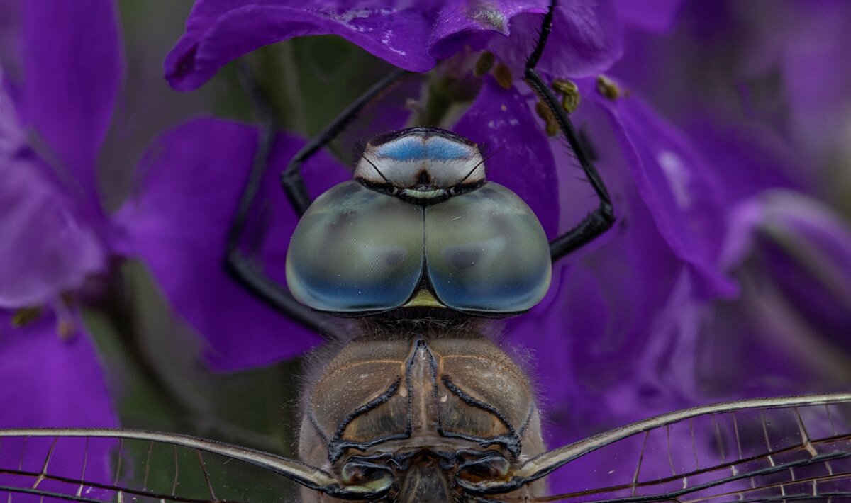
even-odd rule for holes
{"type": "Polygon", "coordinates": [[[298,301],[335,314],[505,315],[544,297],[544,229],[511,190],[486,181],[466,138],[426,127],[375,138],[354,177],[317,198],[295,229],[287,285],[298,301]]]}

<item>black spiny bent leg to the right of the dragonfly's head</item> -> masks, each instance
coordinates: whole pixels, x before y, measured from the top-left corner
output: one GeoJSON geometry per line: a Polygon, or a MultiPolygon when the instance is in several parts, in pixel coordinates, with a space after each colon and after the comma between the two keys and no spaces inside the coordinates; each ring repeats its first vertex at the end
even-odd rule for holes
{"type": "Polygon", "coordinates": [[[540,96],[543,103],[552,111],[558,127],[564,133],[565,138],[568,138],[568,144],[574,150],[574,155],[576,155],[576,159],[580,162],[582,171],[585,172],[585,176],[591,182],[591,187],[597,193],[599,204],[596,209],[589,213],[573,229],[550,241],[550,256],[553,262],[564,257],[571,251],[580,248],[580,246],[585,246],[585,244],[611,228],[614,223],[612,200],[608,195],[606,185],[603,184],[603,178],[600,178],[597,168],[591,163],[591,158],[585,152],[585,148],[574,129],[573,123],[568,119],[567,112],[559,105],[556,96],[552,93],[550,87],[546,85],[544,79],[535,71],[535,66],[538,65],[541,54],[544,54],[546,39],[550,36],[555,7],[556,0],[552,0],[544,16],[544,22],[540,27],[540,37],[535,45],[534,52],[526,60],[526,71],[523,78],[528,83],[528,86],[540,96]]]}

